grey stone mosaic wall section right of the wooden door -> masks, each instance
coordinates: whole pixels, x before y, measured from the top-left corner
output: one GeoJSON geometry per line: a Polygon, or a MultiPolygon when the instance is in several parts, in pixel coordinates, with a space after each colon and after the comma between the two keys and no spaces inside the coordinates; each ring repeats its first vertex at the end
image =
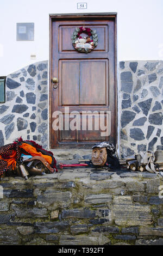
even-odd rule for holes
{"type": "Polygon", "coordinates": [[[163,150],[163,62],[120,62],[119,73],[122,157],[163,150]]]}

